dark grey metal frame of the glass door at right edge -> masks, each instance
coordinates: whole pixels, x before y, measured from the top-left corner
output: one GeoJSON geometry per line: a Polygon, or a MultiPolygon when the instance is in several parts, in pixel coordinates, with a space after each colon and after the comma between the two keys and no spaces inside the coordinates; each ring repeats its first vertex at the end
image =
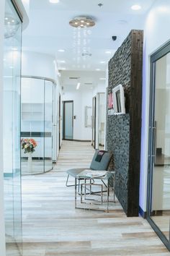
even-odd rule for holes
{"type": "Polygon", "coordinates": [[[147,205],[146,205],[146,219],[150,223],[153,230],[159,236],[161,241],[170,250],[170,238],[166,239],[166,236],[162,233],[161,229],[156,226],[156,223],[152,220],[151,204],[152,204],[152,182],[153,182],[153,160],[155,158],[155,140],[156,135],[155,127],[155,95],[156,95],[156,61],[161,59],[166,54],[170,53],[170,41],[164,46],[158,49],[154,54],[151,55],[151,71],[150,71],[150,108],[149,108],[149,132],[148,132],[148,189],[147,189],[147,205]]]}

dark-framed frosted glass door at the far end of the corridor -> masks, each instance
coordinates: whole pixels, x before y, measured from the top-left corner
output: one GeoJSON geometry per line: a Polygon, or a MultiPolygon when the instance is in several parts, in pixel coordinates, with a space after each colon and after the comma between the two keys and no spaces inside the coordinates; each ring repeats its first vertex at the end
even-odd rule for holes
{"type": "Polygon", "coordinates": [[[63,140],[73,140],[73,101],[63,101],[63,140]]]}

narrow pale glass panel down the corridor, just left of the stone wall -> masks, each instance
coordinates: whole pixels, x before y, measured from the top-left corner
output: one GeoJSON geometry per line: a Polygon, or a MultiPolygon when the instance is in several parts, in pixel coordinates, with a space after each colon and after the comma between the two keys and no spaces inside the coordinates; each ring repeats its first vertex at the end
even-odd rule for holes
{"type": "Polygon", "coordinates": [[[104,124],[106,119],[105,93],[99,93],[99,116],[98,116],[98,142],[99,149],[104,149],[104,124]]]}

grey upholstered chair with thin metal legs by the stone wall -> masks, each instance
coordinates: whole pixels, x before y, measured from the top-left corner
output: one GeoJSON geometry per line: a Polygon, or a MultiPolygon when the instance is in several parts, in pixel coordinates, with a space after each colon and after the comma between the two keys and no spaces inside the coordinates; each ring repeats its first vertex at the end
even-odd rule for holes
{"type": "MultiPolygon", "coordinates": [[[[86,169],[89,170],[96,170],[96,171],[107,171],[107,168],[109,167],[109,163],[111,161],[112,158],[112,154],[108,153],[107,151],[104,151],[104,154],[102,155],[102,158],[100,161],[97,161],[97,155],[99,153],[100,150],[96,150],[94,153],[94,157],[91,161],[91,165],[88,168],[71,168],[67,171],[67,181],[66,181],[66,186],[67,187],[72,187],[74,186],[74,184],[68,185],[68,178],[69,176],[73,176],[74,178],[76,177],[76,175],[80,174],[81,171],[84,171],[86,169]]],[[[80,179],[79,179],[80,180],[80,179]]]]}

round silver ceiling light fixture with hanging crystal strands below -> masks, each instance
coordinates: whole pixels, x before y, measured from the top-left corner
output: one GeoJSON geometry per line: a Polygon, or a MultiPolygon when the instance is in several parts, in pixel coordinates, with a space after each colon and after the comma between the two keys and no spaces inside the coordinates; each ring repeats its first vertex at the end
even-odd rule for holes
{"type": "Polygon", "coordinates": [[[69,22],[72,27],[93,27],[95,25],[94,20],[87,16],[74,17],[73,20],[69,22]]]}

